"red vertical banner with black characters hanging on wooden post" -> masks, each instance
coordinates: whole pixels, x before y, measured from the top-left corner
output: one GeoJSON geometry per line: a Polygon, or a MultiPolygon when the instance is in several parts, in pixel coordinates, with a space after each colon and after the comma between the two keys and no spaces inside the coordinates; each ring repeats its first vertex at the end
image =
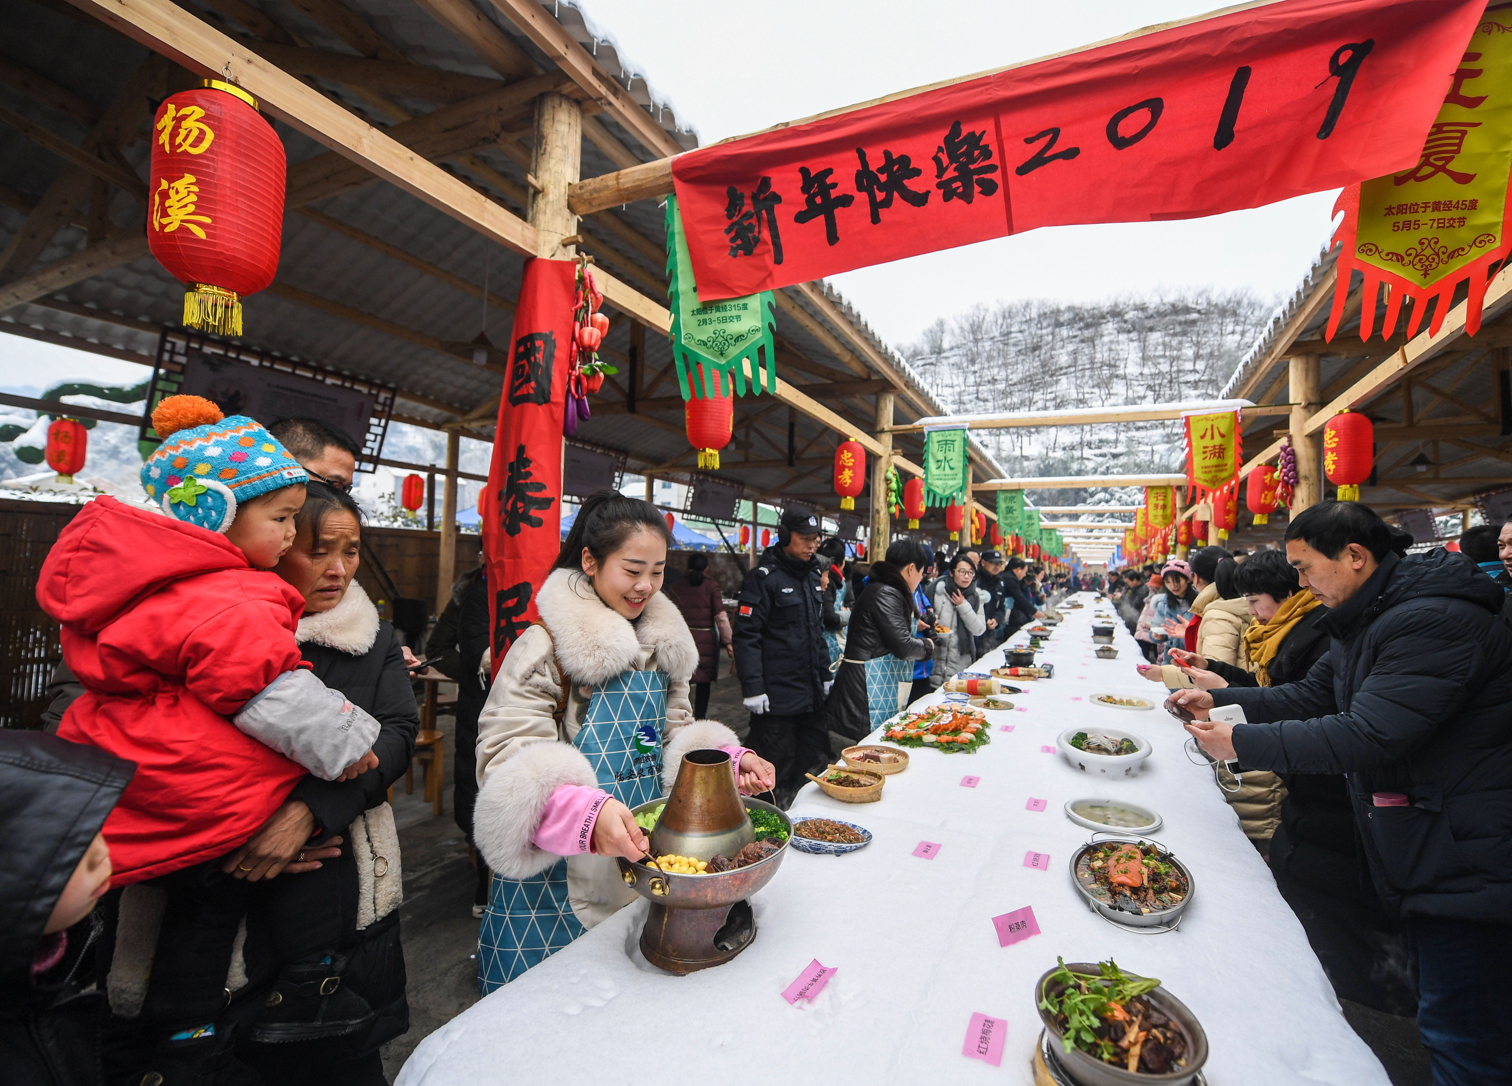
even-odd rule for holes
{"type": "Polygon", "coordinates": [[[573,331],[572,260],[526,260],[499,393],[488,486],[478,499],[488,567],[493,670],[537,619],[535,593],[561,551],[562,411],[573,331]]]}

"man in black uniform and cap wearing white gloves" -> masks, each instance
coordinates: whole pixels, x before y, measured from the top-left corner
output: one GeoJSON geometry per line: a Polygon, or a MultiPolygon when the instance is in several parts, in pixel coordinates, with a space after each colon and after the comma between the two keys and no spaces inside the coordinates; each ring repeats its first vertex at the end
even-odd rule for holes
{"type": "Polygon", "coordinates": [[[777,768],[777,802],[785,806],[803,774],[827,764],[824,696],[830,653],[824,644],[820,520],[789,510],[777,526],[777,546],[741,585],[735,619],[735,670],[751,711],[751,750],[777,768]]]}

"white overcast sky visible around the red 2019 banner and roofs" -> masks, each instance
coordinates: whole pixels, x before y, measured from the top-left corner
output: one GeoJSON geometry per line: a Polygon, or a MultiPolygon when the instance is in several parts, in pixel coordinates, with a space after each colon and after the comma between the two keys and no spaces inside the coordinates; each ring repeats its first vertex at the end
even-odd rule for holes
{"type": "MultiPolygon", "coordinates": [[[[705,144],[1210,11],[1216,0],[582,0],[705,144]]],[[[1334,192],[1182,222],[1060,227],[835,277],[895,346],[977,303],[1163,287],[1288,293],[1328,239],[1334,192]]],[[[0,325],[3,327],[3,325],[0,325]]],[[[141,372],[0,336],[0,384],[141,372]],[[67,369],[67,372],[65,372],[67,369]]],[[[136,377],[135,380],[141,380],[136,377]]]]}

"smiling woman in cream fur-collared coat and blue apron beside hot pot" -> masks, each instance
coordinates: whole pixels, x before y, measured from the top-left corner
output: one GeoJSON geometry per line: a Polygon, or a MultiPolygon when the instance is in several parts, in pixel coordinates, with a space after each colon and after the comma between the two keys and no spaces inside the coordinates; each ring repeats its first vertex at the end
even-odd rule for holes
{"type": "Polygon", "coordinates": [[[729,752],[745,791],[773,768],[694,720],[699,650],[661,593],[668,532],[647,502],[599,492],[540,587],[540,622],[499,666],[478,718],[473,836],[493,868],[478,933],[484,994],[635,900],[615,856],[649,841],[629,808],[671,791],[689,750],[729,752]]]}

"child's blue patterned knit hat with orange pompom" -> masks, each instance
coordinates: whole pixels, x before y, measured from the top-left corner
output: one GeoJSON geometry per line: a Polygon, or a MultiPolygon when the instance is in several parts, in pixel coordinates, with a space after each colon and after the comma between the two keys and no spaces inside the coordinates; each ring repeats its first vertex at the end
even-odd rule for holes
{"type": "Polygon", "coordinates": [[[201,396],[163,399],[153,430],[163,443],[142,464],[142,489],[168,516],[213,532],[231,526],[239,502],[310,478],[262,424],[201,396]]]}

